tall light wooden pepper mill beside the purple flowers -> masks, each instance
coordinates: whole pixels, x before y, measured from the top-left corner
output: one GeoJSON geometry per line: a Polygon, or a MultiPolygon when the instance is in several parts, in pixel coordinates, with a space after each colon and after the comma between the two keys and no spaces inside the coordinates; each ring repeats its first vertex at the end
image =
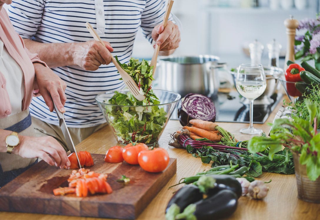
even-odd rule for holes
{"type": "Polygon", "coordinates": [[[293,19],[293,16],[290,15],[289,19],[284,20],[284,26],[286,27],[286,33],[288,37],[287,41],[287,52],[284,59],[284,70],[287,69],[287,61],[294,61],[294,37],[296,35],[296,28],[299,26],[299,21],[293,19]]]}

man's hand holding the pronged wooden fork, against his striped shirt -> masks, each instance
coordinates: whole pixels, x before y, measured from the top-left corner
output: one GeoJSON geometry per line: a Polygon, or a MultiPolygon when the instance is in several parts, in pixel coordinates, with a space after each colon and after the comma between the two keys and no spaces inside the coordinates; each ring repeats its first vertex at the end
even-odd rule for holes
{"type": "Polygon", "coordinates": [[[113,48],[109,42],[87,41],[83,43],[72,43],[72,58],[76,65],[85,70],[97,70],[102,64],[111,62],[113,48]]]}

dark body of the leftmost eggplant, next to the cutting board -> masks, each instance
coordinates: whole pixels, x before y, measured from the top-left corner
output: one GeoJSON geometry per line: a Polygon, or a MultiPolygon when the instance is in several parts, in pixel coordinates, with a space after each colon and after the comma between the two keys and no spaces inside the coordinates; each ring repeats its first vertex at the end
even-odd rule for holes
{"type": "Polygon", "coordinates": [[[203,194],[200,192],[199,188],[196,185],[185,185],[181,187],[170,199],[165,212],[167,213],[168,209],[172,204],[176,204],[180,210],[185,209],[189,204],[197,202],[203,198],[203,194]]]}

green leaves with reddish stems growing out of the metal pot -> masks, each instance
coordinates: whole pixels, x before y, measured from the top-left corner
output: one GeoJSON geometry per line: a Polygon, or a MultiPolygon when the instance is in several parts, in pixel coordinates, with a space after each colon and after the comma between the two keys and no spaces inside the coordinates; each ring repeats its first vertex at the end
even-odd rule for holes
{"type": "MultiPolygon", "coordinates": [[[[269,149],[269,159],[273,160],[275,153],[282,150],[283,145],[287,146],[301,153],[300,164],[306,165],[308,178],[315,181],[320,176],[320,133],[317,131],[320,106],[308,98],[303,103],[308,111],[307,119],[300,118],[298,112],[292,114],[292,120],[276,119],[271,127],[270,138],[253,137],[249,140],[248,149],[252,153],[269,149]]],[[[288,160],[289,154],[284,163],[289,164],[288,160]]]]}

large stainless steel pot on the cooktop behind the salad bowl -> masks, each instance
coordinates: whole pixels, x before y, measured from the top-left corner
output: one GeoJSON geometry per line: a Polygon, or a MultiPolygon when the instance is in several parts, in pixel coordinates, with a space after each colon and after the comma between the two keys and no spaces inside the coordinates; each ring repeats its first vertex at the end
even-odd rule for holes
{"type": "Polygon", "coordinates": [[[159,60],[155,79],[157,88],[179,93],[211,96],[218,92],[219,79],[215,68],[219,57],[210,55],[170,56],[159,60]]]}

